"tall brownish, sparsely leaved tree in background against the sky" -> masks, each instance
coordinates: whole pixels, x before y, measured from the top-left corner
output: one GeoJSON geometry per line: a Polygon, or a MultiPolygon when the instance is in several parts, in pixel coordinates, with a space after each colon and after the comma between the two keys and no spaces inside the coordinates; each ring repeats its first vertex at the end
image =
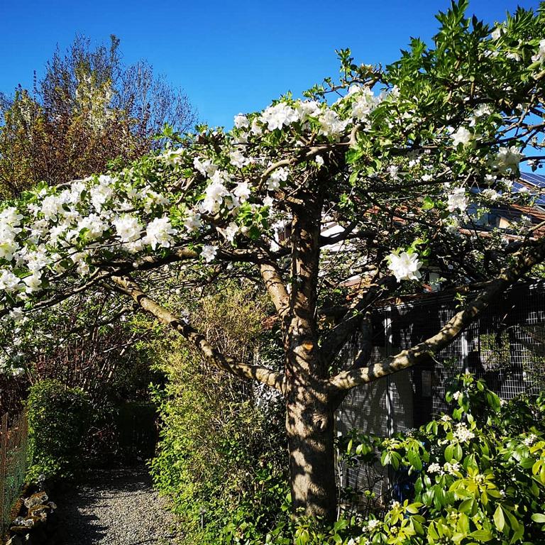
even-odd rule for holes
{"type": "Polygon", "coordinates": [[[0,94],[0,194],[9,197],[104,172],[111,160],[126,165],[160,148],[165,123],[186,131],[194,110],[180,89],[141,60],[123,64],[119,39],[93,48],[78,35],[57,48],[33,91],[0,94]]]}

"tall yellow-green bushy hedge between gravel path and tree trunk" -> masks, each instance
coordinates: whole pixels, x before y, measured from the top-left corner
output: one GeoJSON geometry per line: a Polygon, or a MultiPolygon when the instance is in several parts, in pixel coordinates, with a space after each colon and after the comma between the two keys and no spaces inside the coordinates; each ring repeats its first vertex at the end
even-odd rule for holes
{"type": "MultiPolygon", "coordinates": [[[[199,302],[192,322],[224,353],[251,361],[263,316],[251,290],[227,285],[199,302]]],[[[153,350],[167,384],[153,388],[163,426],[151,472],[180,514],[184,543],[238,543],[241,534],[261,542],[288,510],[280,400],[211,368],[179,339],[153,350]]]]}

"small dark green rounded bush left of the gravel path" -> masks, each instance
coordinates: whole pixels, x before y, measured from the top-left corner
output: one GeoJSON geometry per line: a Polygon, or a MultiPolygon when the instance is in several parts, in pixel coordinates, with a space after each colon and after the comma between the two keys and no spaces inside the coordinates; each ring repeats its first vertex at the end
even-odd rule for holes
{"type": "Polygon", "coordinates": [[[58,380],[43,380],[30,388],[26,407],[31,458],[28,480],[35,480],[40,474],[47,478],[75,475],[89,425],[87,395],[58,380]]]}

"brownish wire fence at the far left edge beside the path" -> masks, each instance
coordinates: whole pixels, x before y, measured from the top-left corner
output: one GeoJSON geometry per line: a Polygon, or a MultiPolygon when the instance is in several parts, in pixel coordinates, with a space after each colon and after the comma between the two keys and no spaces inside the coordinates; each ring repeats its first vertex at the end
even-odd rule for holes
{"type": "Polygon", "coordinates": [[[25,480],[27,447],[26,414],[22,412],[11,418],[4,414],[0,422],[0,543],[25,480]]]}

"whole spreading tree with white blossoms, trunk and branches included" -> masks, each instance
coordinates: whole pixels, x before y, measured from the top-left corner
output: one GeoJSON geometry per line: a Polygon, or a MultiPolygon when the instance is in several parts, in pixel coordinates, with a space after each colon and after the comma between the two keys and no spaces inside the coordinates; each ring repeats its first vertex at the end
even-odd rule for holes
{"type": "Polygon", "coordinates": [[[6,353],[24,312],[97,287],[120,292],[209,363],[284,396],[294,508],[333,518],[334,412],[347,393],[434,357],[545,259],[541,224],[481,221],[498,204],[542,197],[514,182],[528,150],[543,147],[545,5],[493,29],[468,20],[466,7],[439,14],[434,48],[412,40],[384,70],[341,51],[341,81],[306,100],[239,114],[229,132],[172,134],[129,168],[6,204],[6,353]],[[373,304],[422,290],[431,270],[466,297],[463,308],[434,336],[371,364],[373,304]],[[171,290],[229,276],[268,293],[276,362],[225,356],[172,312],[171,290]],[[343,368],[339,352],[358,329],[363,350],[343,368]]]}

